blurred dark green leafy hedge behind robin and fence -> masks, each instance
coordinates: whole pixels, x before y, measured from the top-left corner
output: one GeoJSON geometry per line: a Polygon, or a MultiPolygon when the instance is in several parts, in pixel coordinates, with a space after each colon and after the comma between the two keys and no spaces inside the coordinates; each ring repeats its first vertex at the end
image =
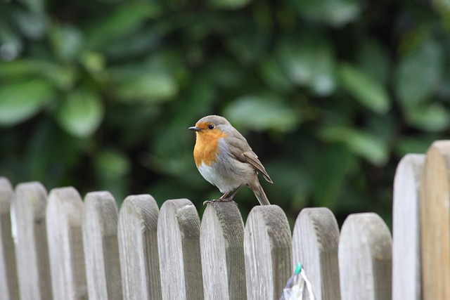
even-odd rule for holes
{"type": "Polygon", "coordinates": [[[390,223],[399,159],[449,138],[449,33],[448,0],[1,1],[0,174],[201,212],[187,128],[217,114],[290,217],[390,223]]]}

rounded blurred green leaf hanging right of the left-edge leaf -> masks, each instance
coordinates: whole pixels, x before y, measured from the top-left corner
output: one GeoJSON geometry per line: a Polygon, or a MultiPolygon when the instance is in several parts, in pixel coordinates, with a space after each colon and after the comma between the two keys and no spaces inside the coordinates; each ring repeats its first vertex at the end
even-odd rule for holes
{"type": "Polygon", "coordinates": [[[68,133],[79,138],[91,136],[103,120],[104,107],[98,95],[79,89],[60,103],[56,119],[68,133]]]}

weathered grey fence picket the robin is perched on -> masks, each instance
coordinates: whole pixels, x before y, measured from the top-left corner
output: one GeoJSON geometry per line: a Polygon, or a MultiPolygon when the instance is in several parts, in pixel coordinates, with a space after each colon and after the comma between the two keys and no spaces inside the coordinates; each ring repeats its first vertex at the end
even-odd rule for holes
{"type": "Polygon", "coordinates": [[[244,223],[233,202],[208,204],[200,226],[205,299],[246,299],[244,223]]]}

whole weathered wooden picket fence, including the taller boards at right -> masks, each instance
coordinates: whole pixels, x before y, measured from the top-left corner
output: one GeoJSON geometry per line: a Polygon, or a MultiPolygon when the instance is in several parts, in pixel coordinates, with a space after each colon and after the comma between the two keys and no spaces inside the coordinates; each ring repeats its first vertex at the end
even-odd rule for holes
{"type": "Polygon", "coordinates": [[[291,234],[276,205],[244,225],[210,204],[200,222],[187,199],[132,195],[118,211],[108,192],[0,178],[0,299],[279,299],[297,262],[316,299],[450,299],[450,141],[406,155],[393,190],[392,239],[373,213],[339,230],[303,209],[291,234]]]}

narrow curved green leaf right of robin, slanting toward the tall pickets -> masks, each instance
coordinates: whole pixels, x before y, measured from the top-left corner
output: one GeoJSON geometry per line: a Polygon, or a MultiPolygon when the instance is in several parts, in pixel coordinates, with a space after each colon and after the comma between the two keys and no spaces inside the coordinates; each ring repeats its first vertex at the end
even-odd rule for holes
{"type": "Polygon", "coordinates": [[[324,141],[344,143],[356,155],[377,166],[386,164],[389,159],[387,143],[368,131],[345,126],[329,126],[323,128],[320,135],[324,141]]]}

